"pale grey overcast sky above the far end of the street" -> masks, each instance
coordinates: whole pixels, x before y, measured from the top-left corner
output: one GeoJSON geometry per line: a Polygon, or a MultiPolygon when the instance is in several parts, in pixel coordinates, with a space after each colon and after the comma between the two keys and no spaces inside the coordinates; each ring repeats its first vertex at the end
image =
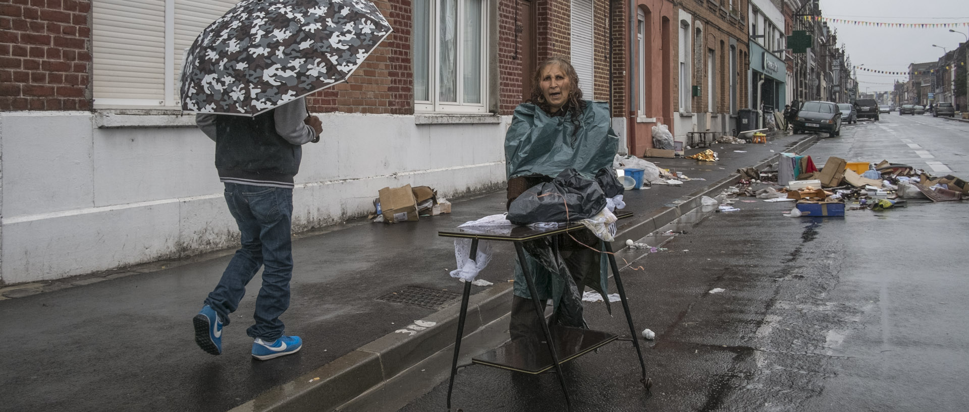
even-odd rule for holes
{"type": "MultiPolygon", "coordinates": [[[[966,23],[969,7],[965,0],[820,0],[822,15],[828,18],[874,21],[880,23],[966,23]]],[[[861,26],[849,23],[828,25],[837,30],[838,45],[855,66],[889,72],[906,72],[910,63],[933,62],[942,57],[942,48],[952,51],[965,42],[965,24],[950,28],[892,28],[861,26]]],[[[894,79],[905,76],[872,74],[858,71],[860,91],[888,91],[894,79]],[[883,84],[884,83],[884,84],[883,84]]]]}

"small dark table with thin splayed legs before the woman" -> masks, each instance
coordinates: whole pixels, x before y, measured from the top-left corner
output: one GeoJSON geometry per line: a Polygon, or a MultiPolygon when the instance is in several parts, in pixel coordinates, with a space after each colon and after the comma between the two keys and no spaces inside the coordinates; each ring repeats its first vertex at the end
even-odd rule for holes
{"type": "MultiPolygon", "coordinates": [[[[631,216],[633,216],[632,213],[616,214],[616,218],[618,219],[626,219],[631,216]]],[[[568,225],[555,228],[535,228],[530,226],[463,226],[455,227],[450,230],[439,231],[438,236],[471,239],[471,259],[475,259],[478,255],[479,240],[484,239],[499,242],[513,242],[515,244],[515,251],[518,256],[518,261],[524,262],[525,251],[521,246],[522,242],[533,241],[548,236],[581,230],[584,228],[585,226],[581,223],[570,223],[568,225]]],[[[464,293],[461,298],[460,317],[458,317],[457,320],[457,338],[454,340],[454,357],[451,366],[451,383],[448,385],[449,410],[451,409],[451,394],[454,386],[454,375],[457,373],[457,369],[472,365],[485,365],[488,367],[503,368],[520,373],[530,374],[538,374],[550,371],[552,368],[554,368],[555,373],[558,375],[559,384],[562,386],[562,392],[565,394],[566,405],[568,406],[568,410],[571,411],[572,401],[569,398],[569,392],[566,387],[565,377],[562,374],[561,365],[617,339],[633,341],[633,345],[636,346],[636,354],[640,358],[640,368],[642,370],[642,377],[640,381],[645,389],[649,390],[649,388],[652,386],[652,379],[646,378],[646,366],[645,363],[642,362],[640,341],[637,338],[639,334],[637,333],[636,327],[633,326],[633,318],[629,312],[629,303],[626,300],[626,291],[622,287],[622,280],[619,276],[618,265],[615,262],[615,255],[612,254],[612,246],[610,245],[610,242],[604,242],[604,244],[604,251],[609,258],[613,280],[615,280],[615,288],[619,294],[620,300],[622,301],[622,309],[626,313],[626,322],[629,324],[629,332],[632,338],[620,339],[615,334],[588,329],[570,328],[557,325],[549,327],[547,322],[544,321],[545,304],[538,298],[538,291],[535,288],[535,280],[533,278],[534,275],[528,271],[527,267],[522,267],[525,282],[528,284],[528,291],[532,296],[532,303],[535,306],[535,311],[538,313],[539,318],[543,319],[543,321],[540,323],[542,323],[542,333],[545,336],[546,347],[543,348],[543,345],[541,345],[541,342],[538,340],[519,339],[509,341],[498,348],[473,358],[470,364],[458,366],[457,357],[461,349],[461,338],[464,335],[464,320],[468,313],[468,298],[471,296],[471,282],[464,282],[464,293]]],[[[609,299],[605,296],[603,298],[609,299]]]]}

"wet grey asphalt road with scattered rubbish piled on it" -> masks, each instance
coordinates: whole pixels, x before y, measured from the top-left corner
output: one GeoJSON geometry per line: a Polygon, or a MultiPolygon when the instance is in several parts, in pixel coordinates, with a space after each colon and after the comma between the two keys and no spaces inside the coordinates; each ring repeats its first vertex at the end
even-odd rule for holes
{"type": "MultiPolygon", "coordinates": [[[[969,124],[883,114],[804,154],[965,178],[969,124]]],[[[781,216],[790,204],[743,200],[739,212],[673,227],[687,233],[638,259],[641,270],[622,272],[638,329],[657,335],[641,340],[652,392],[639,382],[632,345],[614,342],[567,364],[573,410],[966,410],[967,201],[791,219],[781,216]]],[[[613,314],[586,304],[593,329],[628,336],[618,306],[613,314]]],[[[400,410],[446,410],[446,394],[445,380],[400,410]]],[[[565,403],[553,374],[474,366],[455,379],[458,408],[564,411],[565,403]]]]}

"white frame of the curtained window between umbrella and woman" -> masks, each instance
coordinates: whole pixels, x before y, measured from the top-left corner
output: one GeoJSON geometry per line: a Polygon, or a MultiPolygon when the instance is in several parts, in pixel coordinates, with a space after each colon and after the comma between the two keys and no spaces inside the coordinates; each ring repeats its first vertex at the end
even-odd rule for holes
{"type": "MultiPolygon", "coordinates": [[[[440,95],[438,93],[438,85],[440,84],[440,81],[441,81],[440,61],[439,61],[440,50],[438,48],[438,39],[440,39],[441,24],[440,24],[440,15],[438,14],[438,10],[440,6],[440,2],[442,0],[426,0],[426,1],[429,3],[427,8],[429,16],[427,18],[427,21],[428,21],[428,24],[430,25],[430,30],[427,35],[427,44],[414,44],[414,48],[416,49],[417,47],[424,46],[424,47],[427,47],[427,50],[428,50],[426,64],[427,64],[427,74],[428,74],[427,97],[429,98],[429,100],[420,101],[418,100],[417,96],[415,96],[414,111],[423,112],[423,113],[487,113],[488,99],[490,97],[489,89],[487,87],[489,84],[488,82],[489,59],[487,58],[487,56],[488,56],[488,50],[490,49],[488,44],[489,38],[490,38],[488,35],[488,33],[490,32],[489,30],[490,11],[488,8],[488,2],[486,0],[482,0],[481,2],[482,44],[481,44],[481,56],[480,56],[480,59],[481,59],[480,70],[481,70],[482,76],[481,76],[481,79],[479,80],[481,82],[479,87],[481,87],[482,102],[481,103],[463,103],[463,102],[455,103],[455,102],[441,102],[440,95]]],[[[461,28],[462,28],[462,22],[464,21],[462,16],[464,15],[465,9],[467,8],[467,3],[466,3],[466,0],[456,0],[456,2],[457,2],[457,12],[456,12],[457,24],[455,27],[456,27],[457,39],[455,40],[456,46],[454,49],[454,55],[456,60],[455,74],[457,74],[457,79],[455,81],[457,84],[456,84],[455,96],[457,97],[456,100],[461,101],[463,100],[463,96],[464,96],[464,81],[463,81],[463,78],[461,77],[461,74],[464,73],[464,62],[462,59],[462,57],[464,56],[462,52],[464,47],[463,46],[464,31],[461,28]]],[[[414,27],[413,29],[417,30],[418,28],[414,27]]],[[[413,55],[417,55],[417,54],[418,53],[413,53],[413,55]]],[[[417,64],[417,62],[415,62],[415,64],[417,64]]]]}

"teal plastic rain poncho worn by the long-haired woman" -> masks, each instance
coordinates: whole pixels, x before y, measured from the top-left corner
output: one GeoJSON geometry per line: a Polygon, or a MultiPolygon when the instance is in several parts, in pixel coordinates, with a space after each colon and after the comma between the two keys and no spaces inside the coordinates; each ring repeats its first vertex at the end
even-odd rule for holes
{"type": "MultiPolygon", "coordinates": [[[[574,167],[580,174],[593,178],[599,169],[611,167],[619,137],[610,126],[609,104],[585,102],[579,116],[578,130],[572,116],[549,116],[532,103],[521,103],[515,109],[512,126],[505,135],[505,161],[508,178],[544,175],[552,178],[562,170],[574,167]]],[[[591,234],[588,233],[588,234],[591,234]]],[[[525,265],[535,277],[540,299],[552,299],[555,319],[565,326],[584,327],[581,316],[581,294],[569,270],[578,271],[577,278],[603,296],[609,277],[609,260],[605,253],[578,246],[569,235],[544,239],[525,245],[525,265]],[[572,248],[567,245],[572,245],[572,248]],[[562,259],[559,247],[570,250],[571,257],[562,259]],[[579,254],[587,254],[579,256],[579,254]],[[538,257],[538,259],[536,259],[538,257]],[[542,262],[540,262],[540,260],[542,262]],[[567,265],[565,261],[570,263],[567,265]],[[598,264],[597,264],[598,263],[598,264]]],[[[603,250],[601,241],[586,233],[574,236],[585,245],[603,250]]],[[[530,298],[528,285],[519,262],[515,267],[515,294],[530,298]]],[[[609,306],[608,299],[606,300],[609,306]]]]}

